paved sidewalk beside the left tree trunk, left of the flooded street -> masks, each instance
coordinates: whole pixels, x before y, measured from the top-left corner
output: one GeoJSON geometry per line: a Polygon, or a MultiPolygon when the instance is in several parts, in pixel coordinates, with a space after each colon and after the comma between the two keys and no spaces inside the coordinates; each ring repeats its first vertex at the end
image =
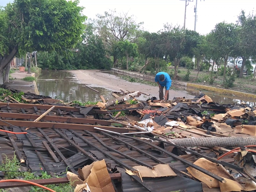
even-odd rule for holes
{"type": "Polygon", "coordinates": [[[36,86],[34,85],[35,83],[21,80],[24,77],[30,77],[30,76],[33,76],[33,74],[20,73],[19,71],[15,71],[14,73],[11,74],[11,77],[14,80],[9,80],[10,83],[5,83],[5,84],[7,84],[12,89],[16,89],[25,93],[31,92],[35,94],[36,91],[38,92],[37,87],[35,88],[36,86]]]}

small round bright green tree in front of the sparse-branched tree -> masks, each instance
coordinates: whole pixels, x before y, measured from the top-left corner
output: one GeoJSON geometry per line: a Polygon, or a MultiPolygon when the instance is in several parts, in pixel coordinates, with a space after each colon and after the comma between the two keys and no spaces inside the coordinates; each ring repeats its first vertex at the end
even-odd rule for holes
{"type": "Polygon", "coordinates": [[[131,43],[127,40],[125,41],[119,41],[117,43],[117,50],[120,53],[120,56],[126,57],[126,69],[128,69],[128,62],[129,62],[129,57],[135,57],[138,55],[137,52],[138,46],[136,43],[131,43]]]}

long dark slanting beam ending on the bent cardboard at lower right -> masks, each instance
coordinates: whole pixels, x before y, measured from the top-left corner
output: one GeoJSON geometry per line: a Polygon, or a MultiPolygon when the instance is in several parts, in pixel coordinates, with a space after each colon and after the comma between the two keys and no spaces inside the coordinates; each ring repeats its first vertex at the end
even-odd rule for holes
{"type": "Polygon", "coordinates": [[[118,134],[118,136],[129,138],[129,139],[132,139],[132,140],[135,140],[135,141],[139,141],[139,142],[145,143],[145,144],[147,144],[147,145],[149,145],[149,146],[151,146],[153,148],[156,148],[157,150],[159,150],[159,151],[161,151],[161,152],[171,156],[172,158],[174,158],[174,159],[176,159],[176,160],[178,160],[178,161],[180,161],[180,162],[182,162],[184,164],[187,164],[188,166],[191,166],[194,169],[196,169],[196,170],[198,170],[198,171],[200,171],[200,172],[202,172],[202,173],[204,173],[204,174],[206,174],[206,175],[208,175],[208,176],[210,176],[210,177],[212,177],[212,178],[214,178],[214,179],[216,179],[216,180],[218,180],[218,181],[220,181],[222,183],[226,182],[225,179],[219,177],[218,175],[214,175],[212,172],[209,172],[209,171],[203,169],[202,167],[199,167],[199,166],[197,166],[197,165],[187,161],[186,159],[183,159],[183,158],[181,158],[181,157],[179,157],[179,156],[177,156],[177,155],[175,155],[175,154],[173,154],[173,153],[171,153],[169,151],[166,151],[165,149],[160,148],[160,147],[158,147],[158,146],[156,146],[156,145],[154,145],[152,143],[148,143],[148,142],[145,142],[145,141],[143,141],[141,139],[137,139],[137,138],[130,137],[130,136],[127,136],[127,135],[120,135],[120,134],[118,134]]]}

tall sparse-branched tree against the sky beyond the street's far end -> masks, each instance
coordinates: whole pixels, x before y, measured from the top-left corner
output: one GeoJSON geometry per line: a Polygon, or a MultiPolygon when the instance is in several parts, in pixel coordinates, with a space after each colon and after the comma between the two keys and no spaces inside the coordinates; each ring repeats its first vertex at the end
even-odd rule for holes
{"type": "Polygon", "coordinates": [[[135,43],[141,35],[140,27],[143,24],[143,22],[136,23],[133,15],[118,14],[115,10],[104,12],[103,15],[97,14],[93,23],[104,42],[105,48],[114,56],[114,64],[117,60],[117,42],[128,40],[135,43]]]}

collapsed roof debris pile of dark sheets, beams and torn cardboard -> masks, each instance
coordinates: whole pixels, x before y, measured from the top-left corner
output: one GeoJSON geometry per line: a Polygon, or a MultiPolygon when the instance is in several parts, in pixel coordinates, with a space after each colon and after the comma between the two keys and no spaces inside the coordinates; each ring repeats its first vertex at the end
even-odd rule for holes
{"type": "Polygon", "coordinates": [[[76,192],[256,190],[255,108],[204,94],[139,101],[140,94],[74,107],[0,103],[0,164],[15,154],[24,169],[52,176],[35,182],[70,181],[76,192]]]}

